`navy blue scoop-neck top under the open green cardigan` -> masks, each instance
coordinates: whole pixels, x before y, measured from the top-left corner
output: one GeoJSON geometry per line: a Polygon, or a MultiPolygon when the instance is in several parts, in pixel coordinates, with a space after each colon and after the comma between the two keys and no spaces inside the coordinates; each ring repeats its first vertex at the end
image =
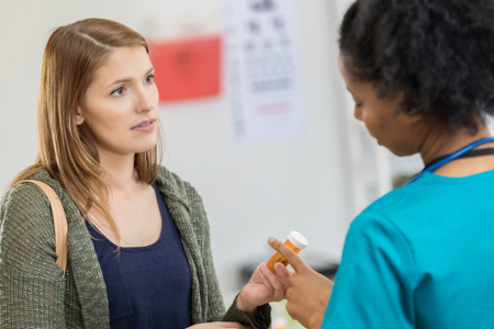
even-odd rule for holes
{"type": "Polygon", "coordinates": [[[156,184],[162,227],[146,247],[121,248],[88,223],[103,272],[111,328],[190,327],[191,275],[180,235],[156,184]]]}

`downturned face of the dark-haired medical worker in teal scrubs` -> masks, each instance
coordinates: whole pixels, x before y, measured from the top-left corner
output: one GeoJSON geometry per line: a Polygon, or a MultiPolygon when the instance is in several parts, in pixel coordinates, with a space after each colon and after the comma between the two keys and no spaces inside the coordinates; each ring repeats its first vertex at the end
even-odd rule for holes
{"type": "Polygon", "coordinates": [[[409,115],[400,107],[403,94],[378,98],[378,89],[371,82],[358,80],[345,66],[340,55],[338,67],[355,100],[353,115],[366,124],[369,134],[396,156],[418,152],[424,137],[423,117],[409,115]]]}

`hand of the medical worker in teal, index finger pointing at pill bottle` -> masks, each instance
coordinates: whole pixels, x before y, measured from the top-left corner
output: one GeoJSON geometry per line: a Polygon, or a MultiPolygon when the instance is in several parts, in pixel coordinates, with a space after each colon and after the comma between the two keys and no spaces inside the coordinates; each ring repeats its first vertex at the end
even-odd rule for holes
{"type": "Polygon", "coordinates": [[[268,242],[295,270],[295,273],[292,274],[283,264],[274,265],[274,270],[287,288],[287,311],[306,328],[321,328],[332,295],[333,282],[311,269],[280,240],[269,238],[268,242]]]}

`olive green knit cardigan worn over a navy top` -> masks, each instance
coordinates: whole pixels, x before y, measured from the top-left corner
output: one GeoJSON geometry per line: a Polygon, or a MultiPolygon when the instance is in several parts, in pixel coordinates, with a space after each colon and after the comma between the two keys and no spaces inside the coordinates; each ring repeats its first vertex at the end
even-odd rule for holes
{"type": "MultiPolygon", "coordinates": [[[[2,197],[0,211],[0,328],[110,328],[103,275],[79,208],[48,172],[30,179],[52,186],[64,205],[68,223],[67,272],[63,279],[63,270],[56,264],[47,197],[34,184],[13,188],[2,197]]],[[[269,305],[258,307],[254,319],[236,308],[236,300],[225,313],[201,196],[165,168],[157,184],[189,261],[192,324],[223,320],[268,328],[269,305]]]]}

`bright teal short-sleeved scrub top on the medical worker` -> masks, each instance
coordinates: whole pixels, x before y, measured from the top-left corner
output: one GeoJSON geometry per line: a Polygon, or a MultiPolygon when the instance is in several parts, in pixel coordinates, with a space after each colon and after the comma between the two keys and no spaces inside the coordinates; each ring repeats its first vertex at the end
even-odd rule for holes
{"type": "Polygon", "coordinates": [[[351,224],[323,328],[494,328],[494,170],[426,172],[351,224]]]}

